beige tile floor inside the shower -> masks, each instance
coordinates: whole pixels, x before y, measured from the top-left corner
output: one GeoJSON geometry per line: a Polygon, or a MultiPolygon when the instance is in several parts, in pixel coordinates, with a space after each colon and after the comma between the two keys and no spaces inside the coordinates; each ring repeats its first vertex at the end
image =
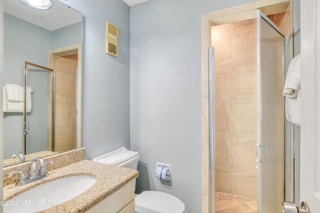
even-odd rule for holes
{"type": "Polygon", "coordinates": [[[257,213],[257,202],[216,192],[215,213],[257,213]]]}

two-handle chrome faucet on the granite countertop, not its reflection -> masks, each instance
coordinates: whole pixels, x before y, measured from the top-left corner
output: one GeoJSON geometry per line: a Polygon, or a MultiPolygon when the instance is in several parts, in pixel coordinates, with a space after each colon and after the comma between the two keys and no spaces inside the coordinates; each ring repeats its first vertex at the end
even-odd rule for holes
{"type": "Polygon", "coordinates": [[[11,177],[14,173],[20,173],[18,181],[15,183],[17,186],[25,185],[28,183],[32,183],[34,181],[40,180],[46,176],[48,176],[48,173],[46,172],[46,165],[47,164],[53,164],[53,161],[45,162],[40,157],[35,157],[30,160],[31,167],[29,171],[29,178],[27,177],[26,172],[23,170],[15,170],[8,174],[8,177],[11,177]],[[39,171],[36,169],[36,162],[40,163],[39,171]]]}

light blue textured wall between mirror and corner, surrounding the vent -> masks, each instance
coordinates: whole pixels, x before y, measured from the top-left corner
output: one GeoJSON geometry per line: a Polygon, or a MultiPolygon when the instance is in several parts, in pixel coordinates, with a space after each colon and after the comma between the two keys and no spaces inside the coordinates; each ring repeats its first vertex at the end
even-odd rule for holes
{"type": "Polygon", "coordinates": [[[63,1],[83,14],[82,145],[86,158],[130,148],[129,6],[122,0],[63,1]],[[118,27],[118,57],[105,53],[105,22],[118,27]]]}

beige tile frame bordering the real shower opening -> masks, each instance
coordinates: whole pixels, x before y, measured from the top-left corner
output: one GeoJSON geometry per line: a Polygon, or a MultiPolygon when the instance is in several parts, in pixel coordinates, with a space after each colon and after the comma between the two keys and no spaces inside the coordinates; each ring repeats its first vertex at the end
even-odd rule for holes
{"type": "MultiPolygon", "coordinates": [[[[212,207],[209,209],[209,203],[212,202],[212,200],[214,201],[213,196],[209,195],[208,47],[211,43],[210,28],[212,25],[256,18],[257,9],[269,15],[285,12],[288,6],[292,6],[291,0],[257,0],[201,14],[202,213],[212,213],[212,207]]],[[[287,149],[291,150],[292,146],[290,145],[287,149]]],[[[289,174],[291,175],[290,178],[286,179],[286,185],[290,187],[288,187],[286,195],[293,195],[292,164],[292,162],[289,162],[288,168],[289,174]]],[[[289,199],[286,200],[291,201],[292,199],[292,196],[289,196],[289,199]]]]}

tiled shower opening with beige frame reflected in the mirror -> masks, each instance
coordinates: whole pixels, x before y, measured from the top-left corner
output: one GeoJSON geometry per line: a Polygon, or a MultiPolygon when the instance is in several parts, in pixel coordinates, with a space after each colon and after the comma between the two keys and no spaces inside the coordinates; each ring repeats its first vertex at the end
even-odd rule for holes
{"type": "Polygon", "coordinates": [[[81,147],[81,44],[49,50],[54,69],[54,142],[52,151],[81,147]]]}

